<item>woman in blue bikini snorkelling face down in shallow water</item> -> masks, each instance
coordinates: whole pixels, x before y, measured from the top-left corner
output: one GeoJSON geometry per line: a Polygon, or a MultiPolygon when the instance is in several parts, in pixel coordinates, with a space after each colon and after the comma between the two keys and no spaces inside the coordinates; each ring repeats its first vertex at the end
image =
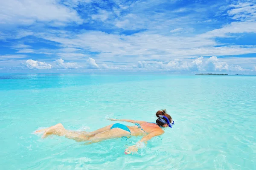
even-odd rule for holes
{"type": "Polygon", "coordinates": [[[137,152],[142,142],[146,143],[152,137],[163,134],[164,131],[161,127],[172,127],[174,125],[172,117],[166,113],[166,110],[157,111],[156,116],[156,123],[127,119],[108,119],[112,121],[130,122],[134,123],[136,126],[125,126],[120,123],[116,123],[93,132],[80,132],[66,130],[63,125],[59,123],[46,129],[37,130],[36,133],[44,132],[42,138],[46,138],[49,135],[58,135],[65,136],[66,138],[73,139],[77,142],[87,141],[87,144],[100,142],[107,139],[120,138],[123,136],[143,136],[143,138],[137,142],[137,144],[125,149],[125,154],[130,154],[137,152]]]}

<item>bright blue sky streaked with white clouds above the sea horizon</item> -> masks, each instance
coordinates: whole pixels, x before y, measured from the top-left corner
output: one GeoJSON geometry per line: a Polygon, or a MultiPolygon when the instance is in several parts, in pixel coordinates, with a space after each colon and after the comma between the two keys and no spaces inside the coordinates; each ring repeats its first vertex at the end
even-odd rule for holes
{"type": "Polygon", "coordinates": [[[0,1],[0,72],[256,74],[256,1],[0,1]]]}

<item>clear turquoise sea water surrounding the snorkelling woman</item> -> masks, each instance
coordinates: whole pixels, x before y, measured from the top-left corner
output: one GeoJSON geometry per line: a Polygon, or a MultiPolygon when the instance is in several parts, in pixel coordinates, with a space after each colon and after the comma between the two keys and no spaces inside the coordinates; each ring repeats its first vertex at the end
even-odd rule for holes
{"type": "Polygon", "coordinates": [[[3,170],[255,170],[256,77],[0,74],[0,134],[3,170]],[[164,108],[175,127],[134,155],[124,150],[140,137],[82,145],[33,134],[154,122],[164,108]]]}

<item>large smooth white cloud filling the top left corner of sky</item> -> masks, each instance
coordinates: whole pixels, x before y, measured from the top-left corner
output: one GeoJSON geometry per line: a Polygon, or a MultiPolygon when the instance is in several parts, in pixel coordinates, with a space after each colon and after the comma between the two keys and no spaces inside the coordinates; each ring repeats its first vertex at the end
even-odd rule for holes
{"type": "Polygon", "coordinates": [[[56,0],[1,0],[0,24],[31,25],[45,22],[49,25],[82,23],[76,10],[61,5],[56,0]]]}

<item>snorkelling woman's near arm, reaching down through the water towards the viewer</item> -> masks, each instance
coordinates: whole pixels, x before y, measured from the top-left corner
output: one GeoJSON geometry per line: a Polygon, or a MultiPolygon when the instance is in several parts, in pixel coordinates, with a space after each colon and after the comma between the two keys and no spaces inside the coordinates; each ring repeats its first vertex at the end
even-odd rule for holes
{"type": "Polygon", "coordinates": [[[159,135],[161,135],[163,133],[164,133],[163,130],[161,130],[161,131],[157,130],[157,131],[149,133],[146,136],[143,136],[143,138],[139,142],[137,142],[137,144],[135,144],[133,146],[130,146],[127,149],[125,149],[125,154],[130,154],[130,153],[137,152],[141,145],[144,145],[144,143],[146,143],[148,140],[150,140],[154,136],[159,136],[159,135]]]}

